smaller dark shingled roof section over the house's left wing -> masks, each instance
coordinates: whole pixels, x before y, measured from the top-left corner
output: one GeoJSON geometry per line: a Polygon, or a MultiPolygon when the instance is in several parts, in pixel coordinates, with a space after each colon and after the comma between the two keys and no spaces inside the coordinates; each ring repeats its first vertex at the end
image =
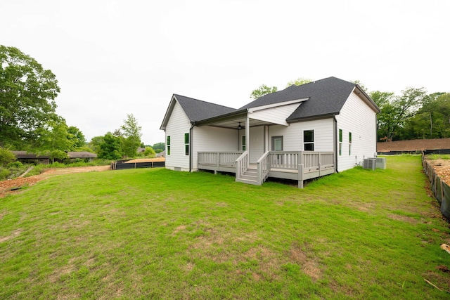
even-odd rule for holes
{"type": "Polygon", "coordinates": [[[236,109],[174,94],[191,122],[236,112],[236,109]]]}

